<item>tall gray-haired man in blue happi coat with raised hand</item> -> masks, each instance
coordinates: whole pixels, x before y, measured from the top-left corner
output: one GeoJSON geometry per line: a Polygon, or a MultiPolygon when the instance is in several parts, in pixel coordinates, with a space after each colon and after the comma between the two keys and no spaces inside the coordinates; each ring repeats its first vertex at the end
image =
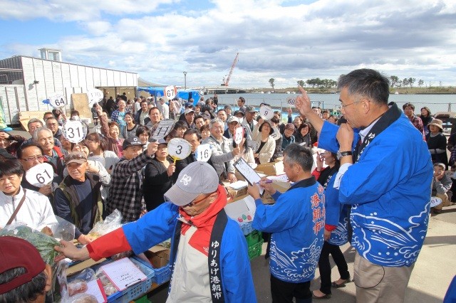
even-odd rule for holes
{"type": "Polygon", "coordinates": [[[395,103],[389,80],[353,70],[338,80],[340,127],[311,109],[304,88],[296,107],[320,134],[318,147],[338,153],[339,201],[351,206],[357,302],[403,302],[427,231],[432,162],[423,135],[395,103]]]}

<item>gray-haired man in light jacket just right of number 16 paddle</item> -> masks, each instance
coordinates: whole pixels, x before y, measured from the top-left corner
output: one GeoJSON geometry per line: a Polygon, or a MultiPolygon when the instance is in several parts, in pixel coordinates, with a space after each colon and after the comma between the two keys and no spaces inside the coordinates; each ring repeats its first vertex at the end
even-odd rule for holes
{"type": "Polygon", "coordinates": [[[209,144],[212,149],[212,166],[214,166],[220,181],[227,179],[230,182],[236,182],[234,176],[233,159],[241,153],[239,147],[230,150],[232,140],[223,136],[224,122],[221,119],[212,119],[209,123],[211,135],[203,140],[202,144],[209,144]]]}

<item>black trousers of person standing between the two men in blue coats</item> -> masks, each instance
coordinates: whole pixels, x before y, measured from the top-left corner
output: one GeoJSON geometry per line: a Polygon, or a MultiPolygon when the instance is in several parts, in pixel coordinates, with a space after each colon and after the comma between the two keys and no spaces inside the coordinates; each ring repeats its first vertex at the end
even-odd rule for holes
{"type": "Polygon", "coordinates": [[[329,244],[328,242],[323,243],[321,249],[320,259],[318,260],[318,270],[320,271],[321,285],[320,291],[323,294],[331,294],[331,264],[329,264],[329,255],[333,256],[333,260],[336,263],[339,274],[342,280],[348,279],[350,273],[348,272],[347,262],[341,248],[338,245],[329,244]]]}

